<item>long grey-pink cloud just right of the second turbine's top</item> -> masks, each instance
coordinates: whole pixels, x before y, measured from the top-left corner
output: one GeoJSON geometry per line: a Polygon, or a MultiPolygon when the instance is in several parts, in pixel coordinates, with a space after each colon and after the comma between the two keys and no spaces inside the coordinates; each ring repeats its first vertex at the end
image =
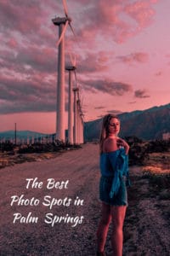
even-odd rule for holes
{"type": "Polygon", "coordinates": [[[122,96],[127,92],[132,91],[132,85],[111,80],[86,80],[83,83],[84,90],[89,90],[93,93],[102,91],[112,96],[122,96]]]}

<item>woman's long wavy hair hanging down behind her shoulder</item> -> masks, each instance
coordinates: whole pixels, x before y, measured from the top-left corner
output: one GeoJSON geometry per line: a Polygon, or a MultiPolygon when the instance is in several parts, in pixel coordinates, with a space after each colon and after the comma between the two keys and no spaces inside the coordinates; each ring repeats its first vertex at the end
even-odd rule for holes
{"type": "Polygon", "coordinates": [[[109,124],[111,119],[118,119],[120,122],[120,119],[114,114],[108,113],[104,116],[102,121],[100,137],[99,137],[99,153],[100,154],[103,153],[103,143],[105,141],[105,138],[109,137],[109,124]]]}

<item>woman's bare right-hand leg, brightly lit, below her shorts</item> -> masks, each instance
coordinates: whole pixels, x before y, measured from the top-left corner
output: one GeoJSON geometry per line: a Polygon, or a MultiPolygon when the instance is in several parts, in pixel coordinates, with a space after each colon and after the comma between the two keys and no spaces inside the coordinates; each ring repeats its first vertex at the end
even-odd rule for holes
{"type": "Polygon", "coordinates": [[[123,243],[122,227],[124,223],[126,210],[127,210],[126,206],[111,207],[111,217],[112,217],[112,224],[113,224],[111,244],[113,247],[114,256],[122,256],[122,243],[123,243]]]}

